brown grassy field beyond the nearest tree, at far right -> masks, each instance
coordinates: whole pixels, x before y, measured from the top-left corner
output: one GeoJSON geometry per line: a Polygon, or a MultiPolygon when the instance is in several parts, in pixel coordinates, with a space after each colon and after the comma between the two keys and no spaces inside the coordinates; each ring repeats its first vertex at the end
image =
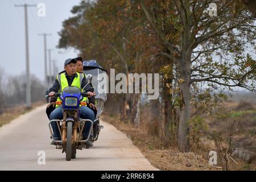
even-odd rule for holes
{"type": "MultiPolygon", "coordinates": [[[[230,160],[231,170],[255,170],[256,161],[254,156],[256,156],[256,104],[246,101],[229,101],[223,103],[223,106],[225,107],[225,110],[222,114],[206,118],[209,125],[207,134],[209,135],[209,133],[213,130],[221,132],[223,145],[227,146],[230,123],[232,123],[234,120],[237,121],[231,147],[238,148],[239,151],[242,151],[243,155],[233,156],[233,159],[238,164],[230,160]],[[252,158],[249,157],[249,155],[251,155],[252,158]]],[[[203,143],[211,143],[211,150],[216,150],[215,147],[213,147],[212,140],[209,141],[206,139],[203,141],[203,143]]],[[[219,156],[218,164],[223,166],[224,163],[221,159],[221,156],[219,156]]]]}

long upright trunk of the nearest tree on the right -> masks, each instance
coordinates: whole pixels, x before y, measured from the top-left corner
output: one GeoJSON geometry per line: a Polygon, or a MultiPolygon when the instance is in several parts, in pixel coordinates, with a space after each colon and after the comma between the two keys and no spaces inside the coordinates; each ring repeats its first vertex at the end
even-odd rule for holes
{"type": "Polygon", "coordinates": [[[189,148],[189,140],[187,138],[189,127],[188,121],[190,119],[190,73],[191,73],[191,55],[192,47],[190,45],[193,35],[191,35],[192,21],[190,17],[190,1],[181,1],[182,13],[181,18],[183,22],[183,32],[181,36],[181,58],[178,60],[178,68],[181,80],[181,105],[179,113],[179,134],[178,147],[179,151],[187,152],[189,148]]]}

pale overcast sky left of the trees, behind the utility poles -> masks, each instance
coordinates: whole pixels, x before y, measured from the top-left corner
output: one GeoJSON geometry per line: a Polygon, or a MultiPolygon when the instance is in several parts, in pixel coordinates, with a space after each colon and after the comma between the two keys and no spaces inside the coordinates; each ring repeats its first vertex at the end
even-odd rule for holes
{"type": "MultiPolygon", "coordinates": [[[[30,73],[38,76],[42,81],[45,78],[45,63],[43,52],[43,36],[47,33],[47,48],[51,51],[51,59],[57,60],[58,71],[63,69],[65,59],[77,57],[79,52],[74,49],[57,49],[63,20],[72,16],[70,10],[79,5],[80,0],[1,0],[0,1],[0,67],[7,75],[19,75],[26,72],[25,56],[25,13],[24,7],[14,5],[37,5],[45,3],[46,16],[37,15],[37,7],[28,7],[29,24],[29,57],[30,73]],[[63,53],[59,53],[59,51],[63,53]]],[[[48,59],[48,56],[47,56],[48,59]]]]}

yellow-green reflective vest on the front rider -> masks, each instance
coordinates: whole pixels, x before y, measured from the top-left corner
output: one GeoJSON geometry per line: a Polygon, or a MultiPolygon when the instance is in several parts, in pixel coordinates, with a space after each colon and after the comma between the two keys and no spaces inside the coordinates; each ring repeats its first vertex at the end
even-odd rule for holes
{"type": "MultiPolygon", "coordinates": [[[[75,74],[77,74],[77,76],[75,76],[71,86],[77,86],[77,88],[82,89],[81,87],[82,87],[82,80],[83,80],[84,74],[83,73],[75,73],[75,74]]],[[[63,89],[65,89],[67,86],[69,86],[69,82],[67,82],[65,73],[61,73],[61,75],[57,75],[56,79],[58,80],[59,86],[60,86],[58,93],[62,93],[63,89]]],[[[82,90],[81,90],[81,92],[82,92],[82,90]]],[[[57,98],[57,101],[61,101],[59,97],[57,98]]],[[[82,102],[87,102],[87,97],[83,97],[82,102]]],[[[62,105],[56,105],[56,108],[61,107],[61,106],[62,105]]],[[[81,107],[81,105],[80,105],[80,107],[81,107]]]]}

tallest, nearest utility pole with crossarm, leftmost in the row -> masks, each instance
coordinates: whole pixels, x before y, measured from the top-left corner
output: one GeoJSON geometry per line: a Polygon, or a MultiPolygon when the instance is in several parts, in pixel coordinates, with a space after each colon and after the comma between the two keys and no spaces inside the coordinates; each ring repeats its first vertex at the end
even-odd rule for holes
{"type": "Polygon", "coordinates": [[[31,88],[30,88],[30,72],[29,72],[29,30],[27,24],[27,7],[34,7],[37,5],[15,5],[15,7],[24,7],[25,9],[25,40],[26,40],[26,105],[27,108],[31,107],[31,88]]]}

